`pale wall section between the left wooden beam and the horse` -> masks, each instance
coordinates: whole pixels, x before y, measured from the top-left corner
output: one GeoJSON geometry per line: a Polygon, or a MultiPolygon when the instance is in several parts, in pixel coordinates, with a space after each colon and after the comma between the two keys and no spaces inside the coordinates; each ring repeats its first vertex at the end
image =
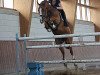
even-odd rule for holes
{"type": "MultiPolygon", "coordinates": [[[[51,32],[47,32],[47,30],[44,28],[44,25],[40,23],[39,15],[33,13],[31,29],[30,29],[30,37],[39,37],[39,36],[53,36],[53,34],[51,32]]],[[[41,40],[41,41],[47,41],[47,40],[41,40]]]]}

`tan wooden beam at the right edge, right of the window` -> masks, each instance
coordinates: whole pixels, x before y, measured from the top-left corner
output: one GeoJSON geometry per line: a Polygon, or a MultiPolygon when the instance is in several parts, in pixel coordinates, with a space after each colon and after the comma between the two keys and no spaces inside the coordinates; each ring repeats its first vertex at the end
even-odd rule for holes
{"type": "MultiPolygon", "coordinates": [[[[95,31],[100,32],[100,0],[90,0],[90,6],[95,8],[90,9],[90,19],[95,24],[95,31]]],[[[100,36],[96,36],[96,41],[100,41],[100,36]]]]}

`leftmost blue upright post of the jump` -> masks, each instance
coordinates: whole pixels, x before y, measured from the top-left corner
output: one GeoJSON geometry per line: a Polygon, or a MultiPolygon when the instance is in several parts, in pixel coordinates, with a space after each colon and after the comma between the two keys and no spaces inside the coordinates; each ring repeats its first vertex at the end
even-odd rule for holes
{"type": "Polygon", "coordinates": [[[19,75],[19,46],[18,46],[18,34],[16,34],[16,74],[19,75]]]}

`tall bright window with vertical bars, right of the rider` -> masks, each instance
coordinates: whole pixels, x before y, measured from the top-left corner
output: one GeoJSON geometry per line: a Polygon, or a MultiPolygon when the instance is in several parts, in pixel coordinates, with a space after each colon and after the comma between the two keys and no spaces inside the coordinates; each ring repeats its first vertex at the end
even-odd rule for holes
{"type": "Polygon", "coordinates": [[[89,0],[78,0],[76,15],[77,19],[90,21],[89,0]]]}

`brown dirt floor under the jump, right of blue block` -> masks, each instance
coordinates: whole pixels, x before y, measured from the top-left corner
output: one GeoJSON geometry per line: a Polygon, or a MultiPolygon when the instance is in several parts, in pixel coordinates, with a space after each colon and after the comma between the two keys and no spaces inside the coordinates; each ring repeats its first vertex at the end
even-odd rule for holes
{"type": "Polygon", "coordinates": [[[89,69],[89,70],[57,70],[57,71],[48,71],[45,72],[45,75],[100,75],[100,69],[95,70],[95,69],[89,69]]]}

